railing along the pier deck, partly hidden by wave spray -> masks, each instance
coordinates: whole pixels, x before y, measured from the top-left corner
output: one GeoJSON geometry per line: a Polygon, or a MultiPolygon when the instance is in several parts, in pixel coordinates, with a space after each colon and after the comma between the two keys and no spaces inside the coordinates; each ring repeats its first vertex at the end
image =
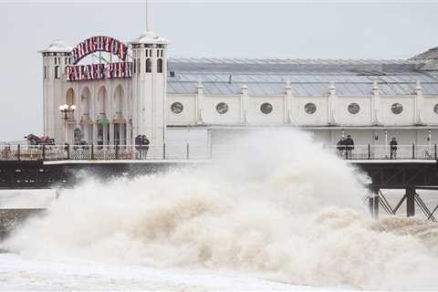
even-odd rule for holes
{"type": "MultiPolygon", "coordinates": [[[[324,145],[347,160],[437,160],[437,145],[324,145]]],[[[208,160],[229,156],[229,145],[182,144],[136,147],[132,145],[2,145],[0,161],[64,160],[208,160]]]]}

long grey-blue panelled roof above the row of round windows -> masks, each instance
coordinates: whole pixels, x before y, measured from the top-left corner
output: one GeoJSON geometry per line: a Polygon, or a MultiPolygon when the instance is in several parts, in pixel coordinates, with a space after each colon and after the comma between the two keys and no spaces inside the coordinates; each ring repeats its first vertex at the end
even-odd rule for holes
{"type": "Polygon", "coordinates": [[[422,72],[417,60],[376,59],[230,59],[169,58],[168,93],[193,94],[202,83],[206,94],[283,95],[288,85],[297,96],[323,96],[334,83],[340,96],[370,95],[377,82],[382,95],[438,95],[438,78],[422,72]]]}

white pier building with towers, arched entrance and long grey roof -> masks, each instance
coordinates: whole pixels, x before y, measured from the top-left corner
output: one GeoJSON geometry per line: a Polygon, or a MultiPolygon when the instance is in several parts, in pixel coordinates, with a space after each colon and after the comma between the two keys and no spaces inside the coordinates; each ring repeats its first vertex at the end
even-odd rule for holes
{"type": "Polygon", "coordinates": [[[41,50],[44,135],[56,143],[208,146],[242,131],[300,127],[327,144],[438,142],[438,47],[409,59],[168,57],[152,32],[41,50]],[[59,110],[67,104],[68,113],[59,110]],[[76,138],[75,138],[76,133],[76,138]]]}

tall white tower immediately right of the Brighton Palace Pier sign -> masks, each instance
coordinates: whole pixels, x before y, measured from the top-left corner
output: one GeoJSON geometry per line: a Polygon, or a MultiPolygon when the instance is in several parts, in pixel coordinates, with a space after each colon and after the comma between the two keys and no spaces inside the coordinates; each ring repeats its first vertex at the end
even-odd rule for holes
{"type": "Polygon", "coordinates": [[[132,47],[132,132],[151,141],[151,158],[162,158],[166,136],[166,82],[169,41],[147,31],[132,47]]]}

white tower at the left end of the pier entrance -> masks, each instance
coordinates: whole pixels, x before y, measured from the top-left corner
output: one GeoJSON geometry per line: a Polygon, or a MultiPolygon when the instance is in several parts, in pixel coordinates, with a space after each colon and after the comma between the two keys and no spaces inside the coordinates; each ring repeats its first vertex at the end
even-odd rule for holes
{"type": "Polygon", "coordinates": [[[50,46],[39,51],[43,55],[43,104],[44,135],[60,142],[62,120],[59,106],[64,104],[63,89],[66,66],[71,64],[71,47],[56,40],[50,46]]]}

